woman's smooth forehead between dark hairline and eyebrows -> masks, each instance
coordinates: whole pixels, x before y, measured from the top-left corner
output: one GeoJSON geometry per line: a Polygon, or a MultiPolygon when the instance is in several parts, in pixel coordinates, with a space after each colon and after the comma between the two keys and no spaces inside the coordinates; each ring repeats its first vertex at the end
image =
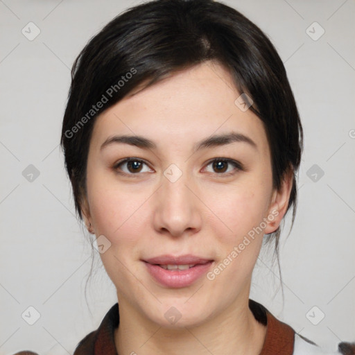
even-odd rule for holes
{"type": "Polygon", "coordinates": [[[236,105],[241,93],[219,64],[205,62],[138,89],[98,116],[92,137],[97,144],[110,135],[127,134],[147,137],[158,148],[182,149],[205,137],[234,131],[250,137],[258,150],[268,150],[262,121],[236,105]]]}

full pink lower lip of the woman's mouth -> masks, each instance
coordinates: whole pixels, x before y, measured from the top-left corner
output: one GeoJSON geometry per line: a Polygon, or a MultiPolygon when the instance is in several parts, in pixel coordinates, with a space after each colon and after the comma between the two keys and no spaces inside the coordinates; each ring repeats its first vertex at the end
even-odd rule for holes
{"type": "Polygon", "coordinates": [[[144,263],[146,264],[150,275],[152,275],[157,282],[166,287],[180,288],[190,286],[193,282],[196,282],[196,280],[211,268],[213,261],[209,261],[205,264],[198,264],[187,270],[180,271],[166,270],[158,265],[147,263],[146,261],[144,263]]]}

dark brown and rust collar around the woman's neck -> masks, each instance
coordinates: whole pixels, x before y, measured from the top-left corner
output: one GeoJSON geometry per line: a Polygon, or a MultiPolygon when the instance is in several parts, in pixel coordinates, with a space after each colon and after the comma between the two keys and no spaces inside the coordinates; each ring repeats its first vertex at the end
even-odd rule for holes
{"type": "MultiPolygon", "coordinates": [[[[295,331],[277,320],[262,304],[249,300],[255,319],[267,325],[266,337],[259,355],[293,355],[295,331]]],[[[119,326],[119,304],[114,304],[96,331],[78,343],[73,355],[118,355],[114,344],[114,329],[119,326]]]]}

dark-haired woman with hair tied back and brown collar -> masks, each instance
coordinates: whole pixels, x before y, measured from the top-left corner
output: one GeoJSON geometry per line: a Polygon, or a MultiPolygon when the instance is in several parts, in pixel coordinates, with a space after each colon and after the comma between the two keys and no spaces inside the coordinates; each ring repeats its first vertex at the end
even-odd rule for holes
{"type": "Polygon", "coordinates": [[[61,144],[118,299],[74,355],[327,354],[249,299],[263,238],[277,253],[295,217],[302,125],[241,13],[157,0],[113,19],[73,65],[61,144]]]}

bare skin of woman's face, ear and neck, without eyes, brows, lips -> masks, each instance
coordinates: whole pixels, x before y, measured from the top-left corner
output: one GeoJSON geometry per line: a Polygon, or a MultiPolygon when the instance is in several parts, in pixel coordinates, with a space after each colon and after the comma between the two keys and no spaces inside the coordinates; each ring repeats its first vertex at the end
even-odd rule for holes
{"type": "Polygon", "coordinates": [[[234,103],[239,95],[222,66],[205,62],[126,96],[96,119],[83,214],[96,237],[111,243],[100,255],[119,300],[114,336],[120,355],[261,351],[266,327],[248,308],[252,270],[263,234],[275,231],[286,213],[292,175],[279,191],[272,188],[263,123],[251,110],[239,109],[234,103]],[[231,131],[250,137],[257,148],[239,141],[193,153],[196,142],[231,131]],[[141,135],[157,149],[128,144],[101,149],[112,135],[141,135]],[[138,173],[128,164],[114,167],[127,157],[146,164],[138,173]],[[234,159],[244,169],[227,164],[218,170],[211,164],[216,157],[234,159]],[[175,182],[164,176],[171,164],[182,173],[175,182]],[[191,286],[167,288],[141,261],[194,254],[214,259],[213,270],[272,211],[277,216],[267,219],[263,233],[214,280],[204,275],[191,286]],[[173,325],[164,317],[171,306],[181,314],[173,325]]]}

